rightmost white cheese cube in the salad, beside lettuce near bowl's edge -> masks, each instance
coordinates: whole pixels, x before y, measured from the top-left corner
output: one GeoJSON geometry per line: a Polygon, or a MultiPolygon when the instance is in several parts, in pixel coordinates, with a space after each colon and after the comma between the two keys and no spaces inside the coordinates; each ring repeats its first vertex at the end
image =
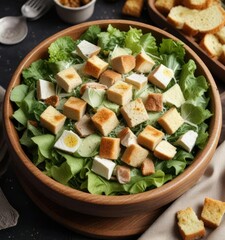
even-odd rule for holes
{"type": "Polygon", "coordinates": [[[186,151],[191,152],[195,145],[197,137],[198,134],[196,132],[189,130],[180,136],[180,138],[177,140],[177,144],[184,148],[186,151]]]}

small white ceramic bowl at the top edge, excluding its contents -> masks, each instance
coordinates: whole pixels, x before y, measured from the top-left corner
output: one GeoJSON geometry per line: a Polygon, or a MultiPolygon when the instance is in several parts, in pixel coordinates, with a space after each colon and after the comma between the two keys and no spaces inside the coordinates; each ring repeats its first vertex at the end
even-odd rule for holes
{"type": "Polygon", "coordinates": [[[59,17],[64,22],[76,24],[84,22],[92,16],[96,0],[91,0],[88,4],[76,8],[64,6],[59,0],[54,0],[54,2],[59,17]]]}

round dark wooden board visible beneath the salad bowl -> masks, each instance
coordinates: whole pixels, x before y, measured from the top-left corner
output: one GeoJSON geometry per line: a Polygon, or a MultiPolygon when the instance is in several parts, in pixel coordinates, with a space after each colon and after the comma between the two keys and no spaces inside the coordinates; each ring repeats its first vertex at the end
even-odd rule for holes
{"type": "Polygon", "coordinates": [[[62,208],[41,195],[37,189],[31,187],[21,175],[17,175],[17,177],[31,200],[45,214],[68,229],[97,239],[137,239],[138,235],[146,231],[166,208],[163,207],[151,213],[120,218],[85,215],[62,208]]]}

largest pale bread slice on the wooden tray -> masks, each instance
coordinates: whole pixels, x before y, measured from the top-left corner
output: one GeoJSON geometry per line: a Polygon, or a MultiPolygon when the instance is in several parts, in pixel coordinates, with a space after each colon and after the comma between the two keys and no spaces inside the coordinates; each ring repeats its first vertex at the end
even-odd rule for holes
{"type": "Polygon", "coordinates": [[[225,12],[218,4],[193,12],[185,19],[183,31],[187,35],[195,36],[198,33],[215,33],[225,24],[225,12]]]}

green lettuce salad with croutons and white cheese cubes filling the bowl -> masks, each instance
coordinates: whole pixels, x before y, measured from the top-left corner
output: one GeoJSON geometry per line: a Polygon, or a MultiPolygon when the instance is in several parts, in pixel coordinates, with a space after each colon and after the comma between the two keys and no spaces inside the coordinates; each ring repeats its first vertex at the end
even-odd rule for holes
{"type": "Polygon", "coordinates": [[[91,194],[136,194],[204,148],[209,86],[181,42],[94,25],[48,53],[10,96],[20,144],[47,176],[91,194]]]}

